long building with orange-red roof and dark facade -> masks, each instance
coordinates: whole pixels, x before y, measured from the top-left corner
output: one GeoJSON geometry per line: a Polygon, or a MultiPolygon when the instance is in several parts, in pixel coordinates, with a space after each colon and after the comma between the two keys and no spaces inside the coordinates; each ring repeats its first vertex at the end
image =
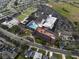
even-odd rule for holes
{"type": "Polygon", "coordinates": [[[54,43],[55,41],[55,35],[52,32],[47,31],[45,28],[37,28],[35,34],[41,36],[49,43],[54,43]]]}

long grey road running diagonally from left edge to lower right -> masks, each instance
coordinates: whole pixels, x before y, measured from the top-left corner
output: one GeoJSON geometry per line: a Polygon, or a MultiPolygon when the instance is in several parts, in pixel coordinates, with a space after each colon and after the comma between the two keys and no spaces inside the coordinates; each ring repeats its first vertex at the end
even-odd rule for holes
{"type": "Polygon", "coordinates": [[[58,48],[50,48],[50,47],[46,47],[46,46],[43,46],[43,45],[40,45],[37,43],[32,43],[32,42],[28,41],[27,39],[14,35],[13,33],[10,33],[2,28],[0,28],[0,31],[3,32],[3,34],[5,34],[6,36],[20,42],[20,44],[25,43],[29,46],[35,46],[37,48],[45,49],[45,50],[52,51],[52,52],[59,52],[59,53],[65,54],[65,55],[79,56],[78,53],[71,53],[71,51],[62,50],[62,49],[58,49],[58,48]]]}

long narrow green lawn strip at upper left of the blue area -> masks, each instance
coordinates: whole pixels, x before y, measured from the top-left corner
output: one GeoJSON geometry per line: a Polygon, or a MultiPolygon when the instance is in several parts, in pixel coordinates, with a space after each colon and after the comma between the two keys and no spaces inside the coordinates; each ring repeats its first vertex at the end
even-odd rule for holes
{"type": "Polygon", "coordinates": [[[25,17],[28,17],[31,13],[33,13],[34,11],[36,11],[37,9],[35,7],[28,7],[25,11],[23,11],[21,13],[21,15],[19,15],[17,17],[17,19],[19,19],[20,21],[24,20],[25,17]]]}

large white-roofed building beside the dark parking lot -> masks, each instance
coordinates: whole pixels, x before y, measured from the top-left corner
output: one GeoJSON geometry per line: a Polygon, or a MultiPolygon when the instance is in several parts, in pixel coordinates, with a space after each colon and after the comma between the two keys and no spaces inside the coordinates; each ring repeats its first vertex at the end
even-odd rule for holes
{"type": "Polygon", "coordinates": [[[52,15],[49,15],[46,20],[42,19],[41,23],[38,25],[39,27],[44,26],[44,27],[52,29],[54,27],[56,20],[57,20],[56,17],[52,17],[52,15]]]}

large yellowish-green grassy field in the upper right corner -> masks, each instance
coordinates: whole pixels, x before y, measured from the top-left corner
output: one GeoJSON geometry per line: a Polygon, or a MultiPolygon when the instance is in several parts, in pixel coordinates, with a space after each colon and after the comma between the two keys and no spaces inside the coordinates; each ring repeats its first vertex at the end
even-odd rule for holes
{"type": "Polygon", "coordinates": [[[79,8],[65,2],[49,2],[53,8],[61,15],[67,17],[70,21],[79,22],[79,8]]]}

